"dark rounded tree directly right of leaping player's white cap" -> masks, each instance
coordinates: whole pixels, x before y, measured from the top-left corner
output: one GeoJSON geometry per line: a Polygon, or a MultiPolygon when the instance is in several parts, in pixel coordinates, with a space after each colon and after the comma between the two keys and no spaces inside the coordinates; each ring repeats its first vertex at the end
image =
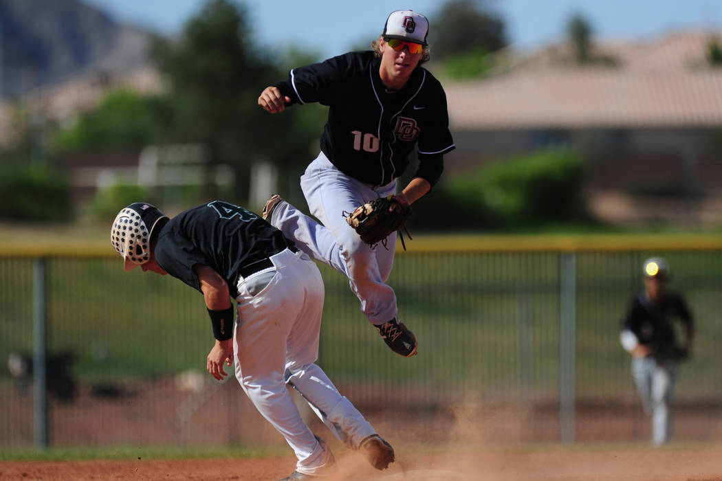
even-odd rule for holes
{"type": "Polygon", "coordinates": [[[448,1],[431,23],[429,43],[434,60],[495,52],[507,45],[504,22],[485,1],[448,1]]]}

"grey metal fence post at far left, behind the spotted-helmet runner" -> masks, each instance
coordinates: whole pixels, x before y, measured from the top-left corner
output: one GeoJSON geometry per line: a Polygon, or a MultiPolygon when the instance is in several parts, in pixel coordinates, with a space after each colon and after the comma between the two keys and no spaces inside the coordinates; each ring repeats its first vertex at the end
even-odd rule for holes
{"type": "Polygon", "coordinates": [[[45,316],[46,282],[45,259],[38,257],[33,265],[32,286],[32,381],[35,388],[33,416],[35,419],[35,447],[38,449],[48,447],[48,374],[45,371],[48,358],[47,319],[45,316]]]}

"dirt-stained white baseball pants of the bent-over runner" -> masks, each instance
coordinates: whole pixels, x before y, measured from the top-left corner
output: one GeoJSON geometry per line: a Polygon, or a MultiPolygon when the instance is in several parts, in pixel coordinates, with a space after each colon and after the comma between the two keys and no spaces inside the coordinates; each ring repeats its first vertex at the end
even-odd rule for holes
{"type": "Polygon", "coordinates": [[[274,268],[238,281],[235,377],[295,452],[296,470],[313,475],[334,464],[334,456],[303,422],[287,383],[350,448],[375,431],[314,363],[324,297],[316,264],[290,250],[270,259],[274,268]]]}

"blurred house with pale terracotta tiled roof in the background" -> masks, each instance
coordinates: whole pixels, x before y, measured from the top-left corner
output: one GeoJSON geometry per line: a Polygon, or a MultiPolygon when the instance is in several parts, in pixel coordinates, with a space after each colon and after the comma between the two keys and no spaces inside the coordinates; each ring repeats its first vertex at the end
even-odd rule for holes
{"type": "Polygon", "coordinates": [[[454,175],[547,146],[588,162],[599,219],[722,223],[722,66],[709,32],[608,42],[612,61],[578,66],[565,45],[518,58],[485,79],[445,81],[454,175]]]}

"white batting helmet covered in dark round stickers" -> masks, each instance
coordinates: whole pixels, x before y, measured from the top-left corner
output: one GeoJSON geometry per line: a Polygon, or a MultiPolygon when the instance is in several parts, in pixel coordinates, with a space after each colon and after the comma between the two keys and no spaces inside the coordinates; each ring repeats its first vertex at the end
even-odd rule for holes
{"type": "Polygon", "coordinates": [[[110,243],[123,257],[125,270],[148,262],[150,234],[161,219],[168,219],[168,216],[143,202],[133,203],[118,212],[110,228],[110,243]]]}

